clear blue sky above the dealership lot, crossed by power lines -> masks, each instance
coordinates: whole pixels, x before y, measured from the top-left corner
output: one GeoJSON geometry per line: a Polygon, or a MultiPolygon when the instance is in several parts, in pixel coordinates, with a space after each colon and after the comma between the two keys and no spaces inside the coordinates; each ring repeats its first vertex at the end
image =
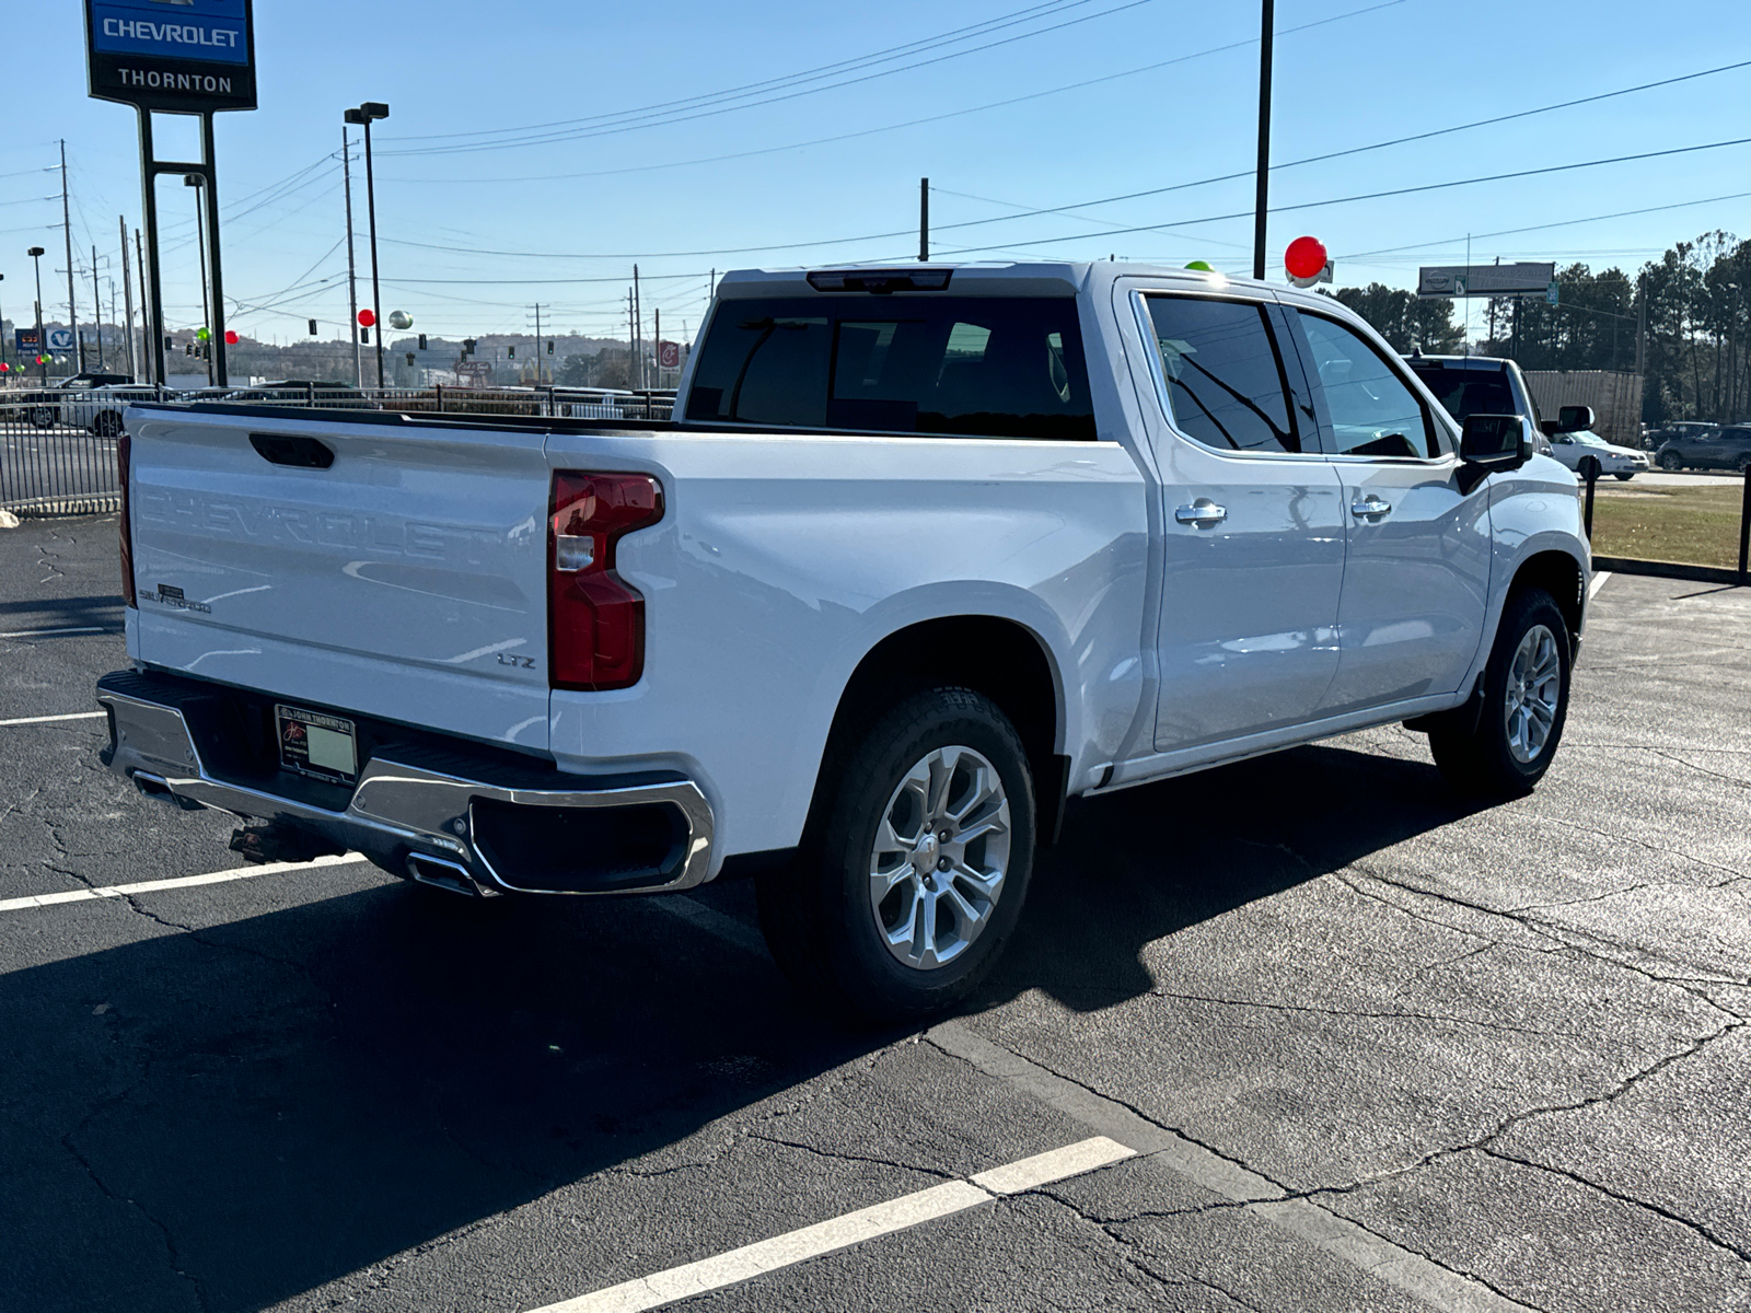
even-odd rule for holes
{"type": "MultiPolygon", "coordinates": [[[[648,278],[646,315],[660,308],[664,336],[676,336],[697,324],[713,268],[914,257],[925,175],[939,257],[1119,254],[1245,271],[1250,217],[1191,221],[1252,205],[1257,11],[1042,0],[1010,21],[1023,7],[259,0],[261,109],[219,119],[226,291],[243,306],[233,306],[231,326],[301,340],[315,317],[324,338],[341,333],[340,121],[361,100],[392,109],[375,133],[382,308],[408,310],[418,327],[448,336],[524,331],[536,301],[552,306],[543,319],[560,331],[623,336],[620,298],[634,259],[648,278]],[[753,96],[765,103],[672,105],[912,42],[928,47],[753,96]],[[1058,91],[1072,84],[1084,86],[1058,91]],[[995,102],[1014,103],[984,109],[995,102]],[[655,105],[669,107],[648,110],[655,105]],[[932,121],[893,126],[918,119],[932,121]],[[553,123],[567,126],[531,128],[553,123]],[[518,144],[539,133],[546,138],[518,144]],[[833,137],[844,140],[821,140],[833,137]],[[1226,173],[1245,177],[953,228],[1226,173]],[[1108,235],[1145,226],[1156,231],[1108,235]],[[874,236],[884,233],[897,236],[874,236]]],[[[117,214],[130,231],[138,222],[138,154],[133,110],[86,98],[81,5],[33,7],[28,35],[9,26],[0,305],[9,319],[28,319],[25,249],[44,245],[65,266],[58,173],[39,172],[58,163],[58,138],[72,172],[75,263],[89,264],[95,242],[105,278],[117,214]]],[[[1276,26],[1275,161],[1751,60],[1751,12],[1728,2],[1649,11],[1618,0],[1278,0],[1276,26]]],[[[1747,93],[1751,68],[1740,68],[1280,170],[1273,205],[1751,137],[1747,93]]],[[[159,133],[161,156],[177,152],[179,138],[159,133]]],[[[193,152],[191,128],[186,142],[193,152]]],[[[1707,229],[1751,235],[1751,196],[1565,221],[1740,191],[1751,193],[1751,145],[1319,205],[1273,215],[1269,270],[1282,277],[1283,245],[1313,233],[1336,256],[1340,284],[1413,285],[1418,264],[1464,263],[1467,233],[1543,224],[1565,226],[1476,236],[1471,259],[1634,268],[1707,229]]],[[[362,196],[355,201],[362,233],[362,196]]],[[[166,315],[194,326],[193,193],[166,184],[161,205],[166,315]]],[[[359,256],[364,271],[362,242],[359,256]]],[[[51,292],[49,263],[44,294],[54,303],[65,299],[65,275],[51,292]]],[[[81,303],[86,317],[89,282],[81,303]]]]}

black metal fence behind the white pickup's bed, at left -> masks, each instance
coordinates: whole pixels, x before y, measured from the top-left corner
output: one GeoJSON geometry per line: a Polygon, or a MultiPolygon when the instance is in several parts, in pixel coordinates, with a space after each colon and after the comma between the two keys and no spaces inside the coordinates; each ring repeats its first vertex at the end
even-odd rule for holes
{"type": "Polygon", "coordinates": [[[667,420],[667,392],[597,389],[385,387],[315,385],[231,387],[166,392],[152,387],[68,392],[0,390],[0,509],[18,515],[95,515],[121,509],[116,438],[137,403],[224,403],[294,410],[387,410],[413,415],[506,415],[559,420],[667,420]]]}

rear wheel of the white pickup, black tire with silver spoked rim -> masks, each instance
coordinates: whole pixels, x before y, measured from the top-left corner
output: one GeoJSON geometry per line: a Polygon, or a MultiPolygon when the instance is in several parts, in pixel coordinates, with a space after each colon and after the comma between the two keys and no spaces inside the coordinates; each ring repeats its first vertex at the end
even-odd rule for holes
{"type": "Polygon", "coordinates": [[[772,956],[853,1021],[954,1007],[1003,952],[1033,872],[1016,727],[968,688],[916,693],[828,758],[821,790],[797,861],[756,881],[772,956]]]}

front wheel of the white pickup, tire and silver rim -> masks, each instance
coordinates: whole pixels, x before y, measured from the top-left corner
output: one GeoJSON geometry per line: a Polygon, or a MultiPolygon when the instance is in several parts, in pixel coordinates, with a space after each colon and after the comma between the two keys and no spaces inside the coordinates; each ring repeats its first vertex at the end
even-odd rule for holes
{"type": "Polygon", "coordinates": [[[1476,723],[1467,725],[1460,709],[1429,728],[1429,751],[1448,784],[1490,798],[1537,788],[1569,718],[1571,660],[1569,627],[1551,595],[1509,593],[1476,723]]]}

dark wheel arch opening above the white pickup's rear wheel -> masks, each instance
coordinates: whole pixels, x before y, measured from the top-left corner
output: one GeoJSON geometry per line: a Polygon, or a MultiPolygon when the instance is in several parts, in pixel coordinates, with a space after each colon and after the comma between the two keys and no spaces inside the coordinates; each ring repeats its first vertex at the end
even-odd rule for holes
{"type": "Polygon", "coordinates": [[[823,784],[856,735],[898,699],[946,685],[972,688],[1009,716],[1033,770],[1040,842],[1056,837],[1070,779],[1063,672],[1037,630],[1002,614],[916,620],[863,655],[833,709],[809,807],[811,826],[823,784]]]}

